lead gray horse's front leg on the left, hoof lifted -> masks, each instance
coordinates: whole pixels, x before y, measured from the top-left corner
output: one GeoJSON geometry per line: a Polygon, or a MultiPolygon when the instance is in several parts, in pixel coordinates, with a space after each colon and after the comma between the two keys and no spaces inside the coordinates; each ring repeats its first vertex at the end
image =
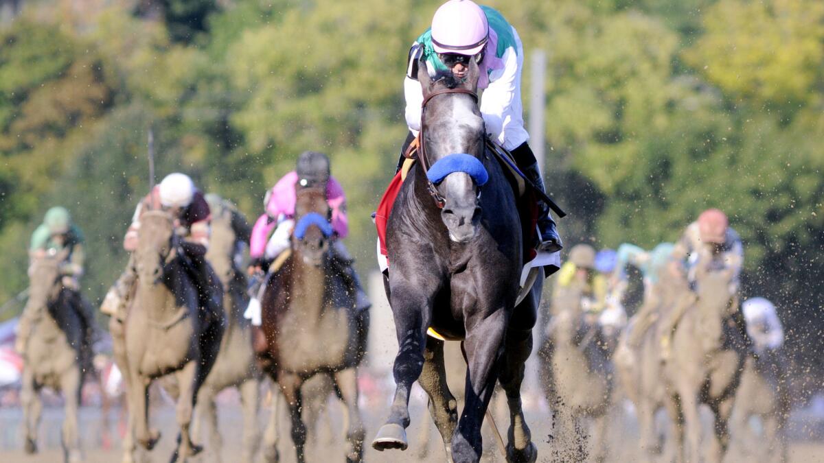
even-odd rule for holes
{"type": "MultiPolygon", "coordinates": [[[[400,270],[393,272],[404,274],[400,270]]],[[[378,451],[406,450],[409,447],[406,428],[410,425],[410,390],[424,368],[425,337],[431,316],[431,311],[424,308],[431,304],[421,300],[420,295],[425,288],[415,288],[414,291],[403,289],[397,288],[392,292],[391,306],[398,336],[398,355],[392,367],[396,389],[389,418],[372,441],[372,447],[378,451]]]]}

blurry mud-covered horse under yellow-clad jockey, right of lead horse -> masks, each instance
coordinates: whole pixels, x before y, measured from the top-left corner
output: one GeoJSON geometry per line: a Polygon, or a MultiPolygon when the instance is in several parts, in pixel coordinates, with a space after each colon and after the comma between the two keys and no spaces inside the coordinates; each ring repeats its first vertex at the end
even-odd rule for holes
{"type": "Polygon", "coordinates": [[[547,339],[539,351],[541,383],[553,409],[553,456],[559,461],[606,460],[616,334],[606,334],[592,314],[584,313],[583,297],[576,283],[556,290],[547,339]]]}

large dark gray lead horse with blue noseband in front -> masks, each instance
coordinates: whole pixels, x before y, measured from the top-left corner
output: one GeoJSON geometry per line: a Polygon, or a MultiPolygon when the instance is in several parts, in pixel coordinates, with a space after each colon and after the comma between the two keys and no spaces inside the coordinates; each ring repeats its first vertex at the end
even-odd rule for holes
{"type": "Polygon", "coordinates": [[[521,383],[543,278],[516,306],[523,229],[516,194],[485,150],[477,63],[470,60],[460,82],[450,75],[433,79],[427,69],[419,63],[421,160],[400,187],[386,228],[391,262],[386,292],[399,344],[393,367],[397,387],[372,447],[408,447],[410,389],[418,381],[431,400],[447,458],[479,461],[481,423],[499,381],[510,410],[508,460],[536,461],[521,383]],[[444,171],[427,171],[442,160],[444,171]],[[446,339],[463,341],[468,372],[460,420],[446,382],[443,341],[427,336],[430,327],[446,339]]]}

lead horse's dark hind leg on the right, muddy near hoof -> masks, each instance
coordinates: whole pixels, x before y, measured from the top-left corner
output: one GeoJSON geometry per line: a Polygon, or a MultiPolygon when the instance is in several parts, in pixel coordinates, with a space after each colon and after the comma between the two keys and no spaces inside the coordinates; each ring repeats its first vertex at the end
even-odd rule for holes
{"type": "Polygon", "coordinates": [[[499,381],[506,392],[509,405],[507,461],[531,463],[538,457],[538,449],[532,443],[532,435],[523,417],[521,403],[521,383],[531,351],[531,330],[508,331],[499,373],[499,381]]]}

